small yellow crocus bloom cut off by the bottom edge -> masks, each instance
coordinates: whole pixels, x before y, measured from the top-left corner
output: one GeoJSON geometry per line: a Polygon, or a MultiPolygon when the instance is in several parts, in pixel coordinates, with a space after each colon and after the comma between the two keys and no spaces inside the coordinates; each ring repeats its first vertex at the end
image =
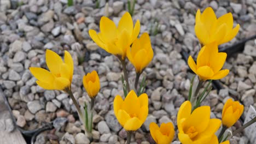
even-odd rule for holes
{"type": "Polygon", "coordinates": [[[172,142],[174,137],[174,127],[171,122],[162,123],[160,128],[154,122],[149,125],[150,134],[154,141],[158,144],[169,144],[172,142]]]}

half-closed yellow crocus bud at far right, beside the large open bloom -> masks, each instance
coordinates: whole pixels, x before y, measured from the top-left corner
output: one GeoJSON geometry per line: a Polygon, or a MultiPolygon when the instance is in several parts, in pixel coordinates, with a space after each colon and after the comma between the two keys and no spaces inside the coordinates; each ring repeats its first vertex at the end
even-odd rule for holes
{"type": "Polygon", "coordinates": [[[243,105],[238,101],[228,99],[222,110],[222,124],[226,128],[234,125],[243,113],[243,105]]]}

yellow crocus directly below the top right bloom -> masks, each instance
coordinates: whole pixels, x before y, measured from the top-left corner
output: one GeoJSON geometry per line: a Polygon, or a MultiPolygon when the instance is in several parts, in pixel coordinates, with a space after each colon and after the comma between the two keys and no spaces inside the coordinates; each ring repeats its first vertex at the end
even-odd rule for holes
{"type": "Polygon", "coordinates": [[[222,69],[226,60],[225,52],[218,52],[216,43],[202,47],[196,59],[188,58],[188,65],[200,77],[200,80],[218,80],[229,74],[228,69],[222,69]]]}

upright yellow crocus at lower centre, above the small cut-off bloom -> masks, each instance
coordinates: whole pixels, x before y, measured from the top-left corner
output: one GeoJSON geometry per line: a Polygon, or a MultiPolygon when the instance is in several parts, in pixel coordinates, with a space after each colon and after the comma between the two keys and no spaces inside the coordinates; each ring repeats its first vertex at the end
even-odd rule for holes
{"type": "Polygon", "coordinates": [[[126,131],[135,131],[141,127],[148,116],[148,95],[143,93],[137,97],[132,90],[125,100],[117,95],[113,106],[115,116],[122,127],[126,131]]]}

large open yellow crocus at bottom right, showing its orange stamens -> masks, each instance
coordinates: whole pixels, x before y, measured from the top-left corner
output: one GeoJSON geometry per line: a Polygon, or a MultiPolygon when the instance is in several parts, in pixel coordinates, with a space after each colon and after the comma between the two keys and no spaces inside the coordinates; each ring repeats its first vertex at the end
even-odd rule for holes
{"type": "Polygon", "coordinates": [[[210,106],[197,107],[191,113],[190,101],[185,101],[178,111],[179,141],[183,144],[208,144],[219,129],[220,119],[210,119],[210,106]]]}

